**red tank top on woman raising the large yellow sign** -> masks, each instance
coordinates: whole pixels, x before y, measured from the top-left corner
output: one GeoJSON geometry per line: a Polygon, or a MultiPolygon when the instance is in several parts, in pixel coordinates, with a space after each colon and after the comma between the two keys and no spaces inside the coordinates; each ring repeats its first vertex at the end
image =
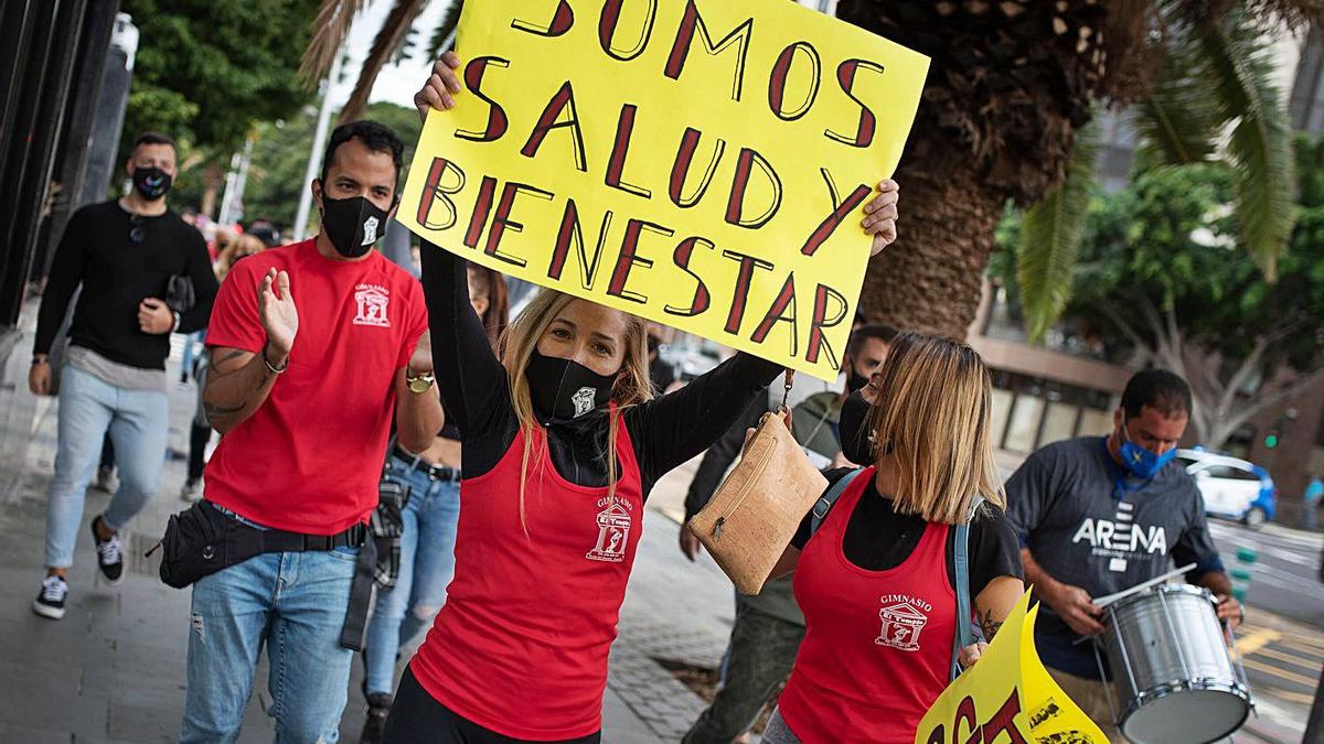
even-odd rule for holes
{"type": "Polygon", "coordinates": [[[535,741],[602,728],[606,653],[643,528],[634,447],[617,428],[620,478],[577,486],[534,429],[519,519],[523,433],[491,471],[465,479],[455,577],[409,669],[437,702],[498,733],[535,741]]]}

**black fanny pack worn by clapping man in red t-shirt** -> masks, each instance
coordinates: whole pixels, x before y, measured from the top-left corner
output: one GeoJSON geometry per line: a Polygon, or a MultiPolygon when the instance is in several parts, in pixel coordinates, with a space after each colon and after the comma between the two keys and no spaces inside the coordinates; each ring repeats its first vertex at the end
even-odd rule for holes
{"type": "Polygon", "coordinates": [[[363,545],[363,524],[336,535],[260,530],[201,500],[172,515],[166,535],[147,555],[162,551],[162,581],[184,589],[199,579],[262,553],[330,551],[363,545]]]}

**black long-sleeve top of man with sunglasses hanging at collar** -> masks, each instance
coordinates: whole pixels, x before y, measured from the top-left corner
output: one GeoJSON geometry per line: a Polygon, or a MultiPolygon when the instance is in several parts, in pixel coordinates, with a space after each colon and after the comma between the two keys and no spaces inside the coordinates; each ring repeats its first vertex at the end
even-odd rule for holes
{"type": "Polygon", "coordinates": [[[136,217],[117,201],[91,204],[74,212],[56,248],[46,291],[37,312],[33,353],[48,353],[64,322],[69,301],[83,290],[69,327],[71,343],[111,361],[142,369],[164,369],[169,335],[144,334],[138,327],[138,304],[146,298],[166,299],[169,278],[193,281],[193,307],[180,315],[180,334],[207,327],[216,299],[216,274],[201,233],[167,210],[136,217]],[[139,226],[142,240],[130,240],[139,226]]]}

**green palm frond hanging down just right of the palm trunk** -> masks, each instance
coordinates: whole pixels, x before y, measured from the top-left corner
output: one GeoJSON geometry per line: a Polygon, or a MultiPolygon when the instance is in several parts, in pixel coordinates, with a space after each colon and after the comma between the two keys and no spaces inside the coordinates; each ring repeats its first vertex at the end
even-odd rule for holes
{"type": "Polygon", "coordinates": [[[1092,122],[1076,132],[1066,179],[1021,217],[1016,274],[1031,342],[1043,338],[1071,299],[1071,275],[1096,183],[1098,139],[1092,122]]]}

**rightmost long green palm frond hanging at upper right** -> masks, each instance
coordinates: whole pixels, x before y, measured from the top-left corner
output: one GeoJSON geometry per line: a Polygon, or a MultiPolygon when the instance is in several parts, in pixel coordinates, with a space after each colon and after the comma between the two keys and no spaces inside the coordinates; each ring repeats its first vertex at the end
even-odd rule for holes
{"type": "Polygon", "coordinates": [[[1207,58],[1210,98],[1234,123],[1226,158],[1234,173],[1234,210],[1242,241],[1272,282],[1278,257],[1296,224],[1292,135],[1287,109],[1274,85],[1274,62],[1263,38],[1231,13],[1200,29],[1207,58]]]}

